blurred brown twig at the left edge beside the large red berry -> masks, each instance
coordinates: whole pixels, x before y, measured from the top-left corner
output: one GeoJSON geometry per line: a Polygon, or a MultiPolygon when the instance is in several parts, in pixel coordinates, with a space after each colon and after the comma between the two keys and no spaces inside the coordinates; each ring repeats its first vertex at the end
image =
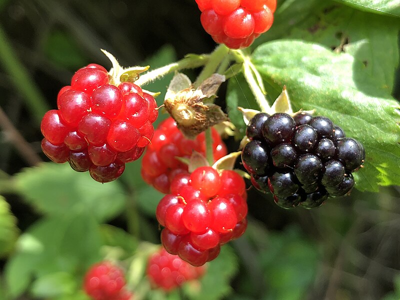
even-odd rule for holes
{"type": "Polygon", "coordinates": [[[14,127],[12,122],[9,120],[4,110],[0,107],[0,126],[6,133],[8,140],[15,146],[22,158],[29,165],[37,165],[41,162],[41,158],[32,149],[30,144],[23,138],[19,131],[14,127]]]}

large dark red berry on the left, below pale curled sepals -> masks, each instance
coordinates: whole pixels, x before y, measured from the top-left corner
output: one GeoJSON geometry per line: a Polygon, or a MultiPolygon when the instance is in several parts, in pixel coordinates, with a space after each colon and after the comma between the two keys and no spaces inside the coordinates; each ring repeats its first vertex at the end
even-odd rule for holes
{"type": "Polygon", "coordinates": [[[125,162],[140,157],[152,138],[158,111],[154,98],[130,82],[109,84],[106,69],[91,63],[75,72],[41,121],[43,152],[69,162],[99,182],[118,178],[125,162]]]}

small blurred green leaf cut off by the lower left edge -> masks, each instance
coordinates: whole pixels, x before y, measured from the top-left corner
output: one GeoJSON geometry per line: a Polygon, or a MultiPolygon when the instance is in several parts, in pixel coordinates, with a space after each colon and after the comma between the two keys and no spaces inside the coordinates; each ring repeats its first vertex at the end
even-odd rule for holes
{"type": "Polygon", "coordinates": [[[8,254],[14,246],[18,236],[16,221],[9,204],[0,196],[0,257],[8,254]]]}

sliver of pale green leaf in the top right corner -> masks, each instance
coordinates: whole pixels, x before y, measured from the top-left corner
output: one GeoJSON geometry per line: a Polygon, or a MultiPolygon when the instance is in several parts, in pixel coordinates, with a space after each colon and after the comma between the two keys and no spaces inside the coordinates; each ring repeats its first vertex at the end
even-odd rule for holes
{"type": "Polygon", "coordinates": [[[400,2],[398,0],[336,0],[368,12],[388,14],[400,17],[400,2]]]}

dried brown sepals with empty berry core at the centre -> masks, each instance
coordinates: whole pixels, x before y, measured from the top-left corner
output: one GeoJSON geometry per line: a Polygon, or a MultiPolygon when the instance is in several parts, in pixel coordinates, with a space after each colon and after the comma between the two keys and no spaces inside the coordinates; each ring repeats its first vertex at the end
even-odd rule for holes
{"type": "Polygon", "coordinates": [[[180,79],[175,76],[176,80],[172,79],[173,86],[168,87],[164,105],[186,137],[194,138],[208,127],[228,120],[227,115],[218,105],[204,103],[207,99],[215,97],[218,87],[225,80],[224,76],[213,74],[204,80],[197,89],[190,86],[179,91],[176,91],[175,86],[182,86],[180,83],[182,81],[187,83],[187,80],[182,76],[180,79]]]}

